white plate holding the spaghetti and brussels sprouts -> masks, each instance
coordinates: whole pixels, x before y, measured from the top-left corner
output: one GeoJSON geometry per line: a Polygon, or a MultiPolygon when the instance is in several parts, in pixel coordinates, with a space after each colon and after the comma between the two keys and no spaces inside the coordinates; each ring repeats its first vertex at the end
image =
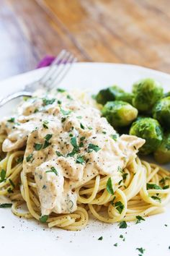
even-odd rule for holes
{"type": "MultiPolygon", "coordinates": [[[[0,82],[1,96],[22,88],[28,82],[40,77],[44,69],[37,69],[26,74],[12,77],[0,82]]],[[[130,91],[136,80],[153,77],[170,90],[170,75],[143,67],[125,64],[79,63],[71,69],[60,87],[89,88],[97,92],[100,88],[117,84],[130,91]]],[[[0,110],[4,116],[14,109],[14,104],[8,104],[0,110]]],[[[170,168],[170,166],[169,166],[170,168]]],[[[137,247],[146,249],[144,256],[170,255],[170,205],[166,212],[146,218],[146,221],[135,225],[128,223],[128,229],[119,229],[116,224],[104,224],[90,221],[82,231],[63,231],[48,229],[37,221],[27,221],[14,216],[9,209],[0,209],[0,244],[1,255],[8,256],[85,256],[85,255],[128,255],[140,254],[137,247]],[[167,224],[168,226],[164,226],[167,224]],[[4,226],[4,229],[1,229],[4,226]],[[125,236],[125,242],[120,239],[125,236]],[[102,241],[98,241],[103,236],[102,241]],[[117,243],[117,247],[114,244],[117,243]]]]}

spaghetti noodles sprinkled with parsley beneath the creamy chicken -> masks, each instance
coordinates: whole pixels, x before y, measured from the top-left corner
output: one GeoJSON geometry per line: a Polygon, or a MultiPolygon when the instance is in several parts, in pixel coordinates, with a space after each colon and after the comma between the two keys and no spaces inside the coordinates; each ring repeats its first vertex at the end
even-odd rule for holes
{"type": "MultiPolygon", "coordinates": [[[[1,168],[6,169],[6,180],[0,184],[0,195],[6,195],[14,201],[12,213],[16,216],[40,220],[40,201],[35,180],[32,174],[23,173],[22,163],[17,163],[17,159],[23,155],[24,151],[7,153],[1,160],[1,168]],[[27,212],[19,210],[19,206],[25,202],[27,212]]],[[[136,216],[145,217],[164,212],[164,205],[170,196],[169,171],[136,158],[122,171],[122,182],[113,187],[113,195],[107,191],[109,177],[97,175],[79,187],[77,210],[69,214],[51,213],[46,221],[48,226],[76,231],[87,225],[90,214],[99,221],[115,223],[135,221],[136,216]],[[147,184],[155,186],[147,189],[147,184]]]]}

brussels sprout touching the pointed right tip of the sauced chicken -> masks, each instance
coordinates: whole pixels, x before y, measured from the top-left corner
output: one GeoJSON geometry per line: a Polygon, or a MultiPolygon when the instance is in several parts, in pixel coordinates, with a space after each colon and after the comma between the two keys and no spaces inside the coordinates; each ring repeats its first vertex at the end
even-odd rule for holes
{"type": "Polygon", "coordinates": [[[140,148],[140,153],[143,155],[153,153],[161,145],[163,139],[160,124],[151,117],[140,117],[134,121],[130,128],[130,135],[146,140],[146,143],[140,148]]]}

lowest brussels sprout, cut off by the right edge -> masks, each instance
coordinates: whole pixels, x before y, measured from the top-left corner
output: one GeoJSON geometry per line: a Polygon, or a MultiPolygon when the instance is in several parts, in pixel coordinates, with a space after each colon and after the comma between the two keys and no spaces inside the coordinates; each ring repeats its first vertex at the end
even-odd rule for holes
{"type": "Polygon", "coordinates": [[[164,139],[154,153],[154,157],[158,163],[170,162],[170,132],[164,135],[164,139]]]}

